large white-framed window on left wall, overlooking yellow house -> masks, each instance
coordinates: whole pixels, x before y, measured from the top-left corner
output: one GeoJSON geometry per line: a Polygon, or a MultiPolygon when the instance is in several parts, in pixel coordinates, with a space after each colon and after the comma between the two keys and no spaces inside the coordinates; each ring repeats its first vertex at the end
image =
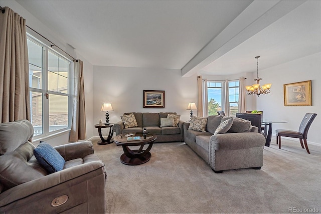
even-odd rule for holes
{"type": "Polygon", "coordinates": [[[68,130],[72,114],[72,61],[32,37],[28,36],[27,44],[34,136],[68,130]]]}

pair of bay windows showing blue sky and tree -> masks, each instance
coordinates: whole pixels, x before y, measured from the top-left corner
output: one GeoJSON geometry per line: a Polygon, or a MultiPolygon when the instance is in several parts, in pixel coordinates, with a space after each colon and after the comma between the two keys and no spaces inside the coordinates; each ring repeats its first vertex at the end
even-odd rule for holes
{"type": "MultiPolygon", "coordinates": [[[[208,96],[208,114],[217,115],[217,111],[224,110],[224,81],[209,81],[207,82],[207,96],[208,96]]],[[[228,103],[230,109],[230,116],[235,116],[238,112],[239,100],[239,80],[228,81],[228,103]]]]}

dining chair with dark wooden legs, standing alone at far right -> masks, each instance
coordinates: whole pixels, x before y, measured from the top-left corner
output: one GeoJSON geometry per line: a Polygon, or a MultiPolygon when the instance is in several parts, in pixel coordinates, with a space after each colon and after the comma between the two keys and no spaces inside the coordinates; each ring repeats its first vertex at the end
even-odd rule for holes
{"type": "Polygon", "coordinates": [[[281,137],[293,137],[299,138],[301,147],[304,149],[302,139],[304,141],[305,149],[307,153],[310,153],[307,147],[307,132],[310,128],[311,123],[313,122],[314,118],[316,117],[315,113],[306,113],[304,118],[301,121],[300,127],[298,131],[286,130],[286,129],[277,129],[276,132],[276,144],[279,144],[279,149],[281,148],[281,137]]]}

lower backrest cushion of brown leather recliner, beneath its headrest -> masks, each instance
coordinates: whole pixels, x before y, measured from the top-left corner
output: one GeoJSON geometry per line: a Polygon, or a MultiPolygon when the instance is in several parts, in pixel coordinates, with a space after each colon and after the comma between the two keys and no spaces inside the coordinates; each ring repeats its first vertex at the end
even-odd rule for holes
{"type": "Polygon", "coordinates": [[[0,182],[6,189],[48,175],[33,155],[34,148],[27,141],[15,151],[0,156],[0,182]]]}

